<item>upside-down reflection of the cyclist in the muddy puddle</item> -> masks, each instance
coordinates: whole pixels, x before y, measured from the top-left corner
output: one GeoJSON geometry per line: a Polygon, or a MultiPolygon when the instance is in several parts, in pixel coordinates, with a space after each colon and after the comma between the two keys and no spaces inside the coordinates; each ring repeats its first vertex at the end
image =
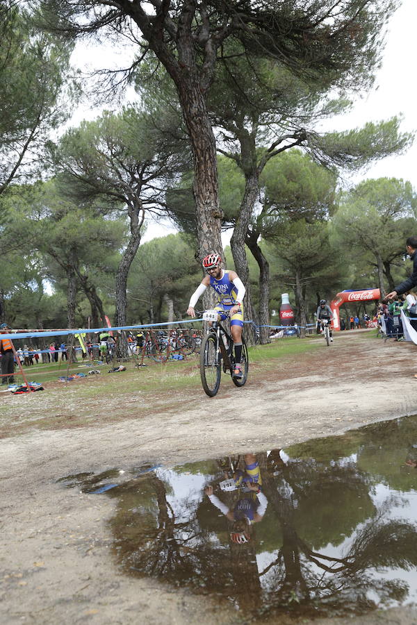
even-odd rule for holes
{"type": "Polygon", "coordinates": [[[233,523],[230,537],[236,544],[250,541],[251,526],[261,521],[268,506],[268,499],[261,491],[262,478],[256,456],[247,453],[243,458],[245,470],[238,469],[233,476],[234,486],[236,489],[241,488],[240,497],[233,510],[213,494],[213,486],[204,489],[213,506],[233,523]]]}

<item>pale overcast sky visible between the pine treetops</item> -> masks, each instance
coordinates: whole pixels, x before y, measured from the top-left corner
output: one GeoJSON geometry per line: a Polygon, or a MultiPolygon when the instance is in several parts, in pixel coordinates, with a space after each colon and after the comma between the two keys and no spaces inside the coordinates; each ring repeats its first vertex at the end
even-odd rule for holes
{"type": "MultiPolygon", "coordinates": [[[[402,115],[402,131],[414,132],[417,130],[417,86],[414,76],[414,62],[416,59],[416,24],[417,0],[402,0],[402,5],[391,18],[386,35],[386,46],[382,58],[382,67],[379,70],[373,90],[354,103],[348,115],[335,117],[329,129],[338,131],[357,128],[366,122],[377,122],[389,119],[394,115],[402,115]]],[[[113,53],[113,66],[120,63],[120,53],[113,53]]],[[[78,47],[74,52],[74,63],[80,69],[102,67],[103,59],[112,58],[111,51],[100,47],[78,47]]],[[[99,110],[82,107],[76,111],[71,125],[79,123],[80,119],[94,119],[99,110]]],[[[359,182],[363,178],[379,178],[389,176],[408,180],[417,190],[417,140],[414,145],[402,156],[392,156],[379,161],[367,171],[360,172],[352,178],[359,182]]],[[[144,240],[155,236],[163,236],[172,232],[157,224],[149,224],[144,240]]],[[[229,233],[229,237],[231,232],[229,233]]],[[[223,243],[229,240],[224,237],[223,243]]]]}

